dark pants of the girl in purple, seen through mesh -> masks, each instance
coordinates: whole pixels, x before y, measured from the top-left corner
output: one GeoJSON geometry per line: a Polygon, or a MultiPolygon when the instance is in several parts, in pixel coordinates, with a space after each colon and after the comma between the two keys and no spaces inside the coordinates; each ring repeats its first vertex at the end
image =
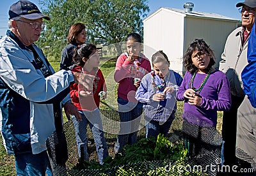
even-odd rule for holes
{"type": "Polygon", "coordinates": [[[182,135],[188,155],[193,158],[195,165],[202,166],[209,175],[216,175],[216,170],[207,169],[208,166],[216,165],[216,159],[220,158],[222,138],[215,126],[191,124],[184,119],[182,135]]]}

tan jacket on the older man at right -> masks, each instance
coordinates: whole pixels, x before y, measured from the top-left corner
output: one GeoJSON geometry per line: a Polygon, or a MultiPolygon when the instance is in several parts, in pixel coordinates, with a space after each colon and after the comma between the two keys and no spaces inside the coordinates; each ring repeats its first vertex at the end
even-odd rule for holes
{"type": "Polygon", "coordinates": [[[241,73],[246,64],[248,64],[248,38],[243,46],[241,45],[242,38],[243,27],[238,27],[229,34],[223,54],[221,55],[219,68],[219,70],[223,71],[228,77],[231,94],[239,97],[244,96],[241,73]]]}

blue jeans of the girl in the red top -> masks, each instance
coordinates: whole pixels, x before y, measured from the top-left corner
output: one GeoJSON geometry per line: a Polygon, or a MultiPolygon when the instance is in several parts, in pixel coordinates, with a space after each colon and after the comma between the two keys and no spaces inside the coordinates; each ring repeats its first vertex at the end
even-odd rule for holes
{"type": "Polygon", "coordinates": [[[85,159],[88,160],[88,152],[87,152],[87,124],[90,126],[92,130],[93,138],[96,145],[96,151],[99,158],[99,163],[102,165],[103,160],[108,157],[108,147],[106,140],[104,138],[104,133],[102,131],[102,122],[100,119],[100,110],[99,108],[93,111],[80,111],[82,115],[82,121],[78,122],[76,117],[72,117],[72,121],[74,123],[75,133],[76,133],[76,144],[79,157],[81,157],[81,147],[84,148],[84,156],[85,159]]]}

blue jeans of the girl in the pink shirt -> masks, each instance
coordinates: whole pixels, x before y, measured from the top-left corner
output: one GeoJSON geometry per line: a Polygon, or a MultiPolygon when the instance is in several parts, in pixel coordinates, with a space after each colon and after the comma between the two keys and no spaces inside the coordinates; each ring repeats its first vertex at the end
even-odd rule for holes
{"type": "Polygon", "coordinates": [[[126,144],[131,145],[132,143],[136,143],[140,118],[143,111],[143,104],[140,102],[131,103],[122,98],[118,98],[117,102],[121,124],[115,144],[115,152],[119,152],[126,144]]]}

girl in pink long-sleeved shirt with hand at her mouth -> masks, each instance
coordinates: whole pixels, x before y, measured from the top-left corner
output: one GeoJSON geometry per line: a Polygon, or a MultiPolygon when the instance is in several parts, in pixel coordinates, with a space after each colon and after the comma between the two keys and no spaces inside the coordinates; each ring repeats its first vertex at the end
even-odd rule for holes
{"type": "Polygon", "coordinates": [[[114,75],[115,82],[119,83],[117,102],[121,122],[115,152],[125,144],[136,142],[143,104],[135,99],[135,92],[141,78],[151,71],[150,61],[141,54],[143,45],[140,34],[131,33],[125,41],[127,52],[118,57],[114,75]]]}

